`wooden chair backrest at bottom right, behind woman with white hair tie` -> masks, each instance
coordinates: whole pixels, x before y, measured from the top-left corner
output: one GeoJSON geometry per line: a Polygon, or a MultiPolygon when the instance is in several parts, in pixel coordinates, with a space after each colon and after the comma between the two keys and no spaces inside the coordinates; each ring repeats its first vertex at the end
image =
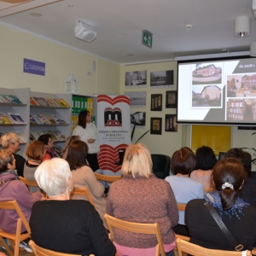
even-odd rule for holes
{"type": "Polygon", "coordinates": [[[177,250],[178,255],[183,256],[183,253],[189,253],[194,256],[249,256],[251,255],[251,251],[243,251],[243,252],[236,252],[236,251],[224,251],[224,250],[214,250],[208,249],[205,247],[201,247],[191,243],[189,241],[184,241],[180,238],[177,238],[177,250]]]}

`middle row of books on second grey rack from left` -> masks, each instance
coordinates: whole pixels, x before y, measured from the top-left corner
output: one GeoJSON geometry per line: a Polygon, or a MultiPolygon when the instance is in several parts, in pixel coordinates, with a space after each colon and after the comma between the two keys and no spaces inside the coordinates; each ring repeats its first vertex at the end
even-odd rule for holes
{"type": "Polygon", "coordinates": [[[42,114],[31,114],[29,117],[31,125],[66,125],[66,121],[59,114],[43,116],[42,114]]]}

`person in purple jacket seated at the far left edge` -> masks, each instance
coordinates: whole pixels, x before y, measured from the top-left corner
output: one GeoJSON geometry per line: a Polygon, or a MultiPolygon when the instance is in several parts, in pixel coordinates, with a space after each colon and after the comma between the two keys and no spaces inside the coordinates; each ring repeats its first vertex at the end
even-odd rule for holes
{"type": "MultiPolygon", "coordinates": [[[[15,170],[15,157],[9,149],[0,149],[0,201],[17,201],[26,220],[29,222],[32,205],[40,201],[42,194],[36,192],[31,194],[26,185],[19,180],[15,170]]],[[[16,233],[17,219],[20,218],[14,210],[0,210],[0,229],[16,233]]],[[[26,232],[22,225],[21,232],[26,232]]],[[[32,250],[27,246],[28,241],[22,241],[20,247],[27,252],[32,250]]]]}

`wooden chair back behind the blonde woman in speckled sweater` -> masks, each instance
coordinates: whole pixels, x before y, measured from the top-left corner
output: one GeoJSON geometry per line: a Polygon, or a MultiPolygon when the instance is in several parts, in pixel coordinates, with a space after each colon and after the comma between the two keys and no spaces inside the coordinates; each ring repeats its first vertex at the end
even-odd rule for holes
{"type": "Polygon", "coordinates": [[[155,250],[155,256],[166,256],[165,249],[162,242],[162,237],[160,234],[159,225],[157,223],[154,224],[141,224],[141,223],[134,223],[121,220],[119,218],[114,218],[108,213],[104,215],[105,221],[108,224],[108,230],[110,231],[110,235],[114,240],[114,232],[113,227],[119,230],[125,230],[134,233],[140,234],[153,234],[156,236],[157,245],[155,250]]]}

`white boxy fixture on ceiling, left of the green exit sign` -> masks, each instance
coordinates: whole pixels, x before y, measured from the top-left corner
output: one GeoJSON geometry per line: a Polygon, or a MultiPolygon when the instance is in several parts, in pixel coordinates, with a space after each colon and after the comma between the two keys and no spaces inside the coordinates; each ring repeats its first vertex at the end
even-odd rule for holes
{"type": "Polygon", "coordinates": [[[77,21],[77,25],[74,27],[74,32],[76,38],[79,38],[88,43],[95,39],[97,35],[97,33],[92,30],[92,26],[80,20],[77,21]]]}

